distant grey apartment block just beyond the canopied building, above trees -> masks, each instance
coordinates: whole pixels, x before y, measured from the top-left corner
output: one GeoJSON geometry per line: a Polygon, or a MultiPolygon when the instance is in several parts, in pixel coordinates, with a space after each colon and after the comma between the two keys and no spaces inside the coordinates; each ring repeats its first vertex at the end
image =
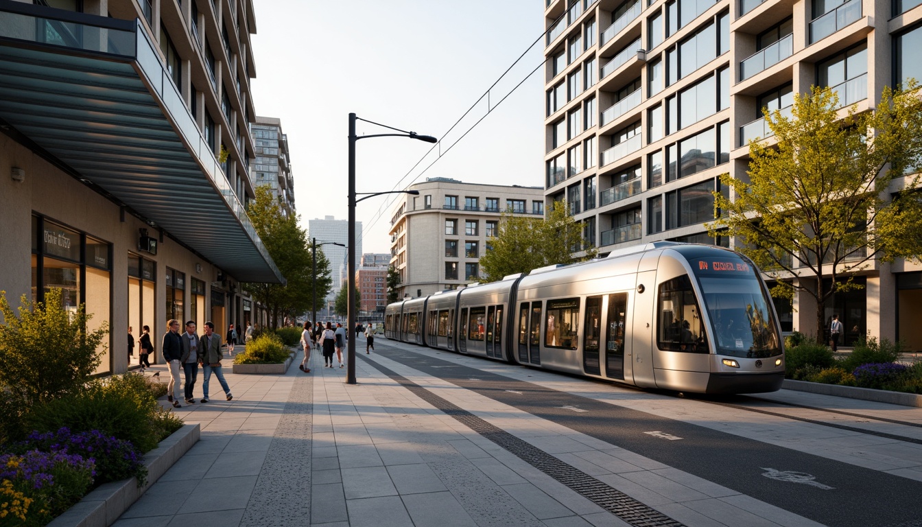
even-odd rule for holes
{"type": "Polygon", "coordinates": [[[252,167],[255,186],[271,188],[285,215],[294,214],[294,177],[288,136],[282,132],[281,119],[257,115],[256,122],[250,126],[250,134],[256,153],[252,167]]]}

